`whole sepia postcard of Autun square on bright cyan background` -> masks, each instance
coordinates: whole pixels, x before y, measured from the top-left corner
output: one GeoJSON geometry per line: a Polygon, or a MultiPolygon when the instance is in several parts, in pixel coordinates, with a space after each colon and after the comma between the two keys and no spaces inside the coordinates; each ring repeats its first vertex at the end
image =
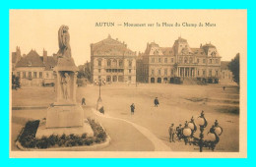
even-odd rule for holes
{"type": "Polygon", "coordinates": [[[10,10],[11,158],[247,157],[246,10],[10,10]]]}

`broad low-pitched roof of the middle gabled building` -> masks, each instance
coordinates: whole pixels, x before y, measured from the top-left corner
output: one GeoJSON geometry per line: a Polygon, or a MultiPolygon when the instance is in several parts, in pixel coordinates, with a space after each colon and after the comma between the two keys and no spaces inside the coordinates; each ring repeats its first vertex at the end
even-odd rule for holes
{"type": "Polygon", "coordinates": [[[112,39],[109,35],[106,39],[92,44],[92,51],[94,55],[114,56],[114,55],[125,55],[135,56],[136,53],[127,48],[124,42],[120,42],[117,39],[112,39]]]}

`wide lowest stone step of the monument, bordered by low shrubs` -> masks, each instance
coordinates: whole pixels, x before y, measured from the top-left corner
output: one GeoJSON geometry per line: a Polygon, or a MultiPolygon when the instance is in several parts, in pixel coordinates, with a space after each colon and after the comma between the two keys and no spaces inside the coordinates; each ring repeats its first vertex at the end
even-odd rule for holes
{"type": "Polygon", "coordinates": [[[71,128],[46,128],[46,121],[45,120],[40,121],[35,138],[37,139],[41,139],[42,137],[47,138],[51,135],[62,136],[63,134],[65,134],[66,136],[74,134],[75,136],[79,136],[79,137],[81,137],[83,134],[87,134],[87,137],[94,137],[94,131],[87,119],[84,120],[82,127],[71,127],[71,128]]]}

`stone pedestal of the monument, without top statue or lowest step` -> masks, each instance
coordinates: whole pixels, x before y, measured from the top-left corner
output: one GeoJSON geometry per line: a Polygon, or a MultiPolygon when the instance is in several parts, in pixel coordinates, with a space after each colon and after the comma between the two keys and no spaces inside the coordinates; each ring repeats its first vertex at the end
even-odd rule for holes
{"type": "Polygon", "coordinates": [[[56,101],[48,108],[46,128],[83,127],[84,110],[76,103],[77,71],[72,58],[59,58],[53,69],[56,101]]]}

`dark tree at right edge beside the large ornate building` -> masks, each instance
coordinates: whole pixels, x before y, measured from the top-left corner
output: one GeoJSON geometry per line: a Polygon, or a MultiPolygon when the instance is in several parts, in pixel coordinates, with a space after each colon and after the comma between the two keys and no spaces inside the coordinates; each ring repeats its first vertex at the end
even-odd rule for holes
{"type": "Polygon", "coordinates": [[[228,69],[232,72],[233,74],[233,81],[239,85],[240,82],[240,53],[237,53],[235,57],[231,60],[231,62],[228,64],[228,69]]]}

